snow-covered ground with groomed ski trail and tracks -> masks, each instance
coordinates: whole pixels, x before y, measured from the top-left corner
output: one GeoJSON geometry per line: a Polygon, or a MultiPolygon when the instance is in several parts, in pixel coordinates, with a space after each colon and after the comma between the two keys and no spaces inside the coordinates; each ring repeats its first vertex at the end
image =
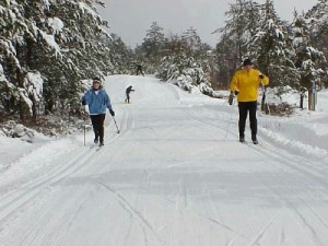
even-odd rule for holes
{"type": "Polygon", "coordinates": [[[258,114],[148,77],[109,77],[118,134],[0,136],[2,246],[326,246],[328,91],[316,112],[258,114]],[[133,85],[131,104],[125,89],[133,85]]]}

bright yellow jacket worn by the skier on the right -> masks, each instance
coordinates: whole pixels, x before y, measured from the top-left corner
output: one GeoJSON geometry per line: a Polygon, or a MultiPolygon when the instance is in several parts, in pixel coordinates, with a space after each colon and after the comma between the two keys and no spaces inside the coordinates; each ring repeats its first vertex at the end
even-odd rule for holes
{"type": "Polygon", "coordinates": [[[257,69],[251,69],[247,72],[245,69],[236,71],[232,81],[230,89],[235,92],[238,91],[237,99],[238,102],[254,102],[258,97],[258,86],[260,83],[263,85],[269,84],[269,78],[265,75],[260,79],[259,75],[262,74],[257,69]]]}

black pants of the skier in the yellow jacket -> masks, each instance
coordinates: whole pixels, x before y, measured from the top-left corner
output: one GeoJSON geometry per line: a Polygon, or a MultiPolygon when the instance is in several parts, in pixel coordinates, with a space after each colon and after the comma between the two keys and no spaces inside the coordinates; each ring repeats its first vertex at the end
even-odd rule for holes
{"type": "Polygon", "coordinates": [[[256,134],[257,134],[257,119],[256,119],[257,101],[255,101],[255,102],[239,102],[238,107],[239,107],[239,137],[245,138],[245,125],[246,125],[247,114],[249,112],[251,139],[256,140],[256,134]]]}

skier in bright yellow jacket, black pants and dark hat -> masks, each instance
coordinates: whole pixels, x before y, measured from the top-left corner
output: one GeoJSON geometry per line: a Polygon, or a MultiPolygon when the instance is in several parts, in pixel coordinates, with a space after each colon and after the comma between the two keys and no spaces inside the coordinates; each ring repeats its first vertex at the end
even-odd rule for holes
{"type": "Polygon", "coordinates": [[[251,141],[258,144],[257,134],[257,97],[258,87],[260,84],[268,85],[269,78],[263,75],[259,70],[253,68],[249,59],[243,62],[243,69],[235,72],[231,81],[231,91],[237,95],[238,109],[239,109],[239,141],[245,142],[245,125],[247,114],[249,112],[251,141]]]}

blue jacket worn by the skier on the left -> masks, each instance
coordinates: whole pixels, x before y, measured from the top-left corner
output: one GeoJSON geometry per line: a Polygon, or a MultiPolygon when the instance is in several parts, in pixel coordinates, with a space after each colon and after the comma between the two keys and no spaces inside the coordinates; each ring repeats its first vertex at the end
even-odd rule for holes
{"type": "Polygon", "coordinates": [[[104,89],[99,89],[98,94],[93,89],[90,89],[82,96],[82,104],[89,105],[90,115],[106,114],[106,109],[112,109],[112,104],[108,94],[104,89]]]}

